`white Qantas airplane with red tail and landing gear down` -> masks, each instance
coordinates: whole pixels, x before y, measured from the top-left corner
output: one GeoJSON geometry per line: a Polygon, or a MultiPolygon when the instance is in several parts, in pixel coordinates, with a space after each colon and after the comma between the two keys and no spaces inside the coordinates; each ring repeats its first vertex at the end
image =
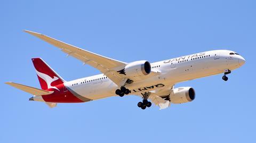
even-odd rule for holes
{"type": "Polygon", "coordinates": [[[44,102],[49,107],[55,107],[57,103],[84,103],[113,96],[136,95],[142,98],[138,103],[142,110],[150,107],[151,102],[164,109],[171,104],[192,102],[195,99],[194,88],[174,88],[175,84],[221,73],[222,79],[227,81],[227,74],[245,63],[241,55],[229,50],[201,52],[155,63],[146,60],[126,63],[63,43],[41,33],[24,31],[60,48],[62,52],[102,73],[65,81],[42,58],[32,58],[41,89],[5,82],[32,94],[33,97],[29,100],[44,102]]]}

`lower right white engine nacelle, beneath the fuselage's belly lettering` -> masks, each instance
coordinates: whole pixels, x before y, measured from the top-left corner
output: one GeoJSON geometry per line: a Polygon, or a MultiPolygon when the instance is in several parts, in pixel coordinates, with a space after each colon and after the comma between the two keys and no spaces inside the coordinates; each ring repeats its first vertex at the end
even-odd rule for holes
{"type": "Polygon", "coordinates": [[[170,100],[171,103],[180,104],[191,102],[195,99],[195,90],[191,87],[179,87],[171,90],[170,100]]]}

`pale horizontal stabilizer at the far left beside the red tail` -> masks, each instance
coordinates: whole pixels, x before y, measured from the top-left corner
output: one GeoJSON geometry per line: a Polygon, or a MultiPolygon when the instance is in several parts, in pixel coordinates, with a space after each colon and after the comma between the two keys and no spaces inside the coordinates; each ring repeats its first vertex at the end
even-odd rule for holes
{"type": "Polygon", "coordinates": [[[54,92],[54,91],[47,91],[47,90],[43,90],[43,89],[38,89],[38,88],[34,88],[34,87],[21,85],[21,84],[14,83],[14,82],[5,82],[5,83],[7,85],[13,86],[15,88],[18,88],[20,90],[23,90],[25,92],[28,92],[29,94],[36,95],[36,96],[49,95],[54,92]]]}

